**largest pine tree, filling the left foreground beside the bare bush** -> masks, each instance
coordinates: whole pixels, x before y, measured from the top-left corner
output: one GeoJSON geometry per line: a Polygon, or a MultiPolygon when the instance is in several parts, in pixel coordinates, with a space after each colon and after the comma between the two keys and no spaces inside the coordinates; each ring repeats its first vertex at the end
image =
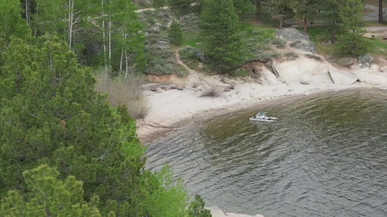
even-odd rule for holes
{"type": "Polygon", "coordinates": [[[57,38],[36,45],[14,39],[0,73],[0,196],[27,191],[22,171],[46,163],[61,179],[83,181],[84,198],[100,195],[100,211],[143,212],[144,149],[135,121],[94,91],[89,69],[57,38]],[[104,209],[101,209],[104,207],[104,209]]]}

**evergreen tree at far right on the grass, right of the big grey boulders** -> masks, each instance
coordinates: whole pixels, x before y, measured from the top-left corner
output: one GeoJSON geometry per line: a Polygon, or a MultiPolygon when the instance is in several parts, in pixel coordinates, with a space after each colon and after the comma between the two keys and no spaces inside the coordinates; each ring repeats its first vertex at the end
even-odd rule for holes
{"type": "Polygon", "coordinates": [[[345,0],[341,5],[339,17],[342,33],[338,36],[341,53],[358,56],[367,52],[367,42],[363,37],[366,30],[361,27],[363,10],[363,0],[345,0]]]}

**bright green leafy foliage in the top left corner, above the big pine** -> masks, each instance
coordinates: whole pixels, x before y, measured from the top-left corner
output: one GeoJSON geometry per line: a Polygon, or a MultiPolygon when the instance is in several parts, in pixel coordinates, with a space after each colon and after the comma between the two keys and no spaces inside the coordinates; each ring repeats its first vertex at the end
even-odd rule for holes
{"type": "Polygon", "coordinates": [[[26,38],[28,27],[20,14],[19,0],[0,0],[0,5],[0,46],[3,47],[10,42],[12,36],[26,38]]]}

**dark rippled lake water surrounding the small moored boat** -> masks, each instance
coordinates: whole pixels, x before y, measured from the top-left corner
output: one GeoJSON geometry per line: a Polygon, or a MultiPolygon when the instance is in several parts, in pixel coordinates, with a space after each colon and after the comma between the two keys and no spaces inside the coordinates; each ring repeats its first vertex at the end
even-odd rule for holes
{"type": "Polygon", "coordinates": [[[387,92],[362,89],[223,115],[154,142],[147,168],[169,164],[191,194],[224,211],[386,217],[386,106],[387,92]],[[261,110],[279,120],[248,121],[261,110]]]}

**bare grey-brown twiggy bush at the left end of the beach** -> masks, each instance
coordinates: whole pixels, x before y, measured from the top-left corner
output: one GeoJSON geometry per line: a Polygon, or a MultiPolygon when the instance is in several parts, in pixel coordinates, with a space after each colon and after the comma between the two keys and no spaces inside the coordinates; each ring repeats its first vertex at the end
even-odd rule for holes
{"type": "Polygon", "coordinates": [[[109,92],[108,101],[113,106],[126,105],[130,115],[135,119],[143,119],[149,111],[149,105],[144,97],[142,85],[144,76],[128,74],[111,80],[106,73],[97,77],[96,90],[109,92]]]}

